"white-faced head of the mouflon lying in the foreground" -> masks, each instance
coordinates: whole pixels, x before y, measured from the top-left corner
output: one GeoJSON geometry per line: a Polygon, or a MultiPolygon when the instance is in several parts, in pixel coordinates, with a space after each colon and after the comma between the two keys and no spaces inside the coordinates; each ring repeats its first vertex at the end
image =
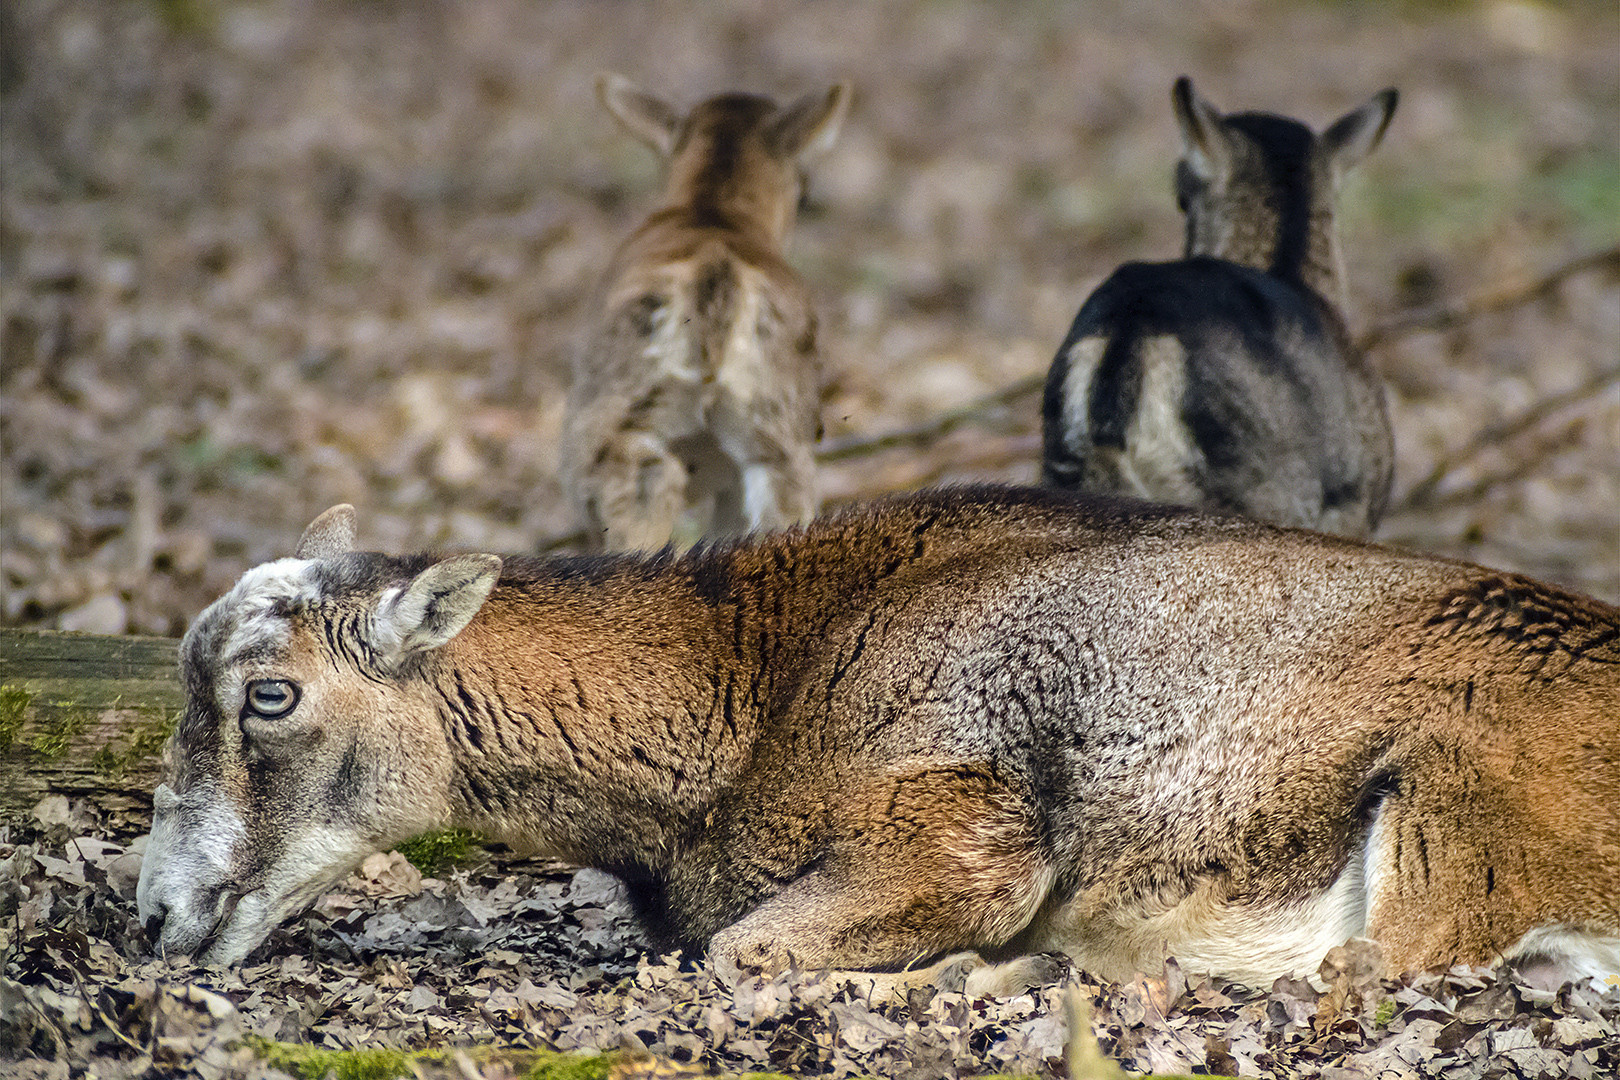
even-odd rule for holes
{"type": "Polygon", "coordinates": [[[327,510],[180,646],[186,704],[136,905],[157,947],[235,963],[371,852],[442,823],[449,751],[421,659],[478,614],[494,555],[353,552],[327,510]]]}

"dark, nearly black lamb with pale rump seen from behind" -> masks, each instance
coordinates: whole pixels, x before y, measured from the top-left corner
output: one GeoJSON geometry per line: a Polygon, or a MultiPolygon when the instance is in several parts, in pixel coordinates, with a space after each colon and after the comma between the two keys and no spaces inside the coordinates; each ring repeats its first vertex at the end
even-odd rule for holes
{"type": "Polygon", "coordinates": [[[1395,449],[1345,330],[1333,194],[1395,91],[1320,136],[1221,115],[1186,78],[1171,99],[1186,257],[1121,266],[1074,317],[1047,376],[1045,483],[1366,536],[1395,449]]]}

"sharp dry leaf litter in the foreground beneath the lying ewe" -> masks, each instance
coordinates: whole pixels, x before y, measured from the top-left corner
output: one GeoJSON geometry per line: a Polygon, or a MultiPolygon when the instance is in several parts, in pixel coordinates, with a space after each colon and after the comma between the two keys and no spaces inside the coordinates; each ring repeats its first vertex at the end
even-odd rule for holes
{"type": "MultiPolygon", "coordinates": [[[[1620,988],[1544,989],[1507,970],[1380,980],[1353,941],[1265,989],[1174,965],[1098,983],[1053,957],[1029,993],[872,999],[821,973],[766,978],[653,955],[617,881],[491,855],[423,879],[376,855],[246,963],[154,960],[134,913],[143,842],[84,832],[83,811],[0,832],[0,1067],[18,1080],[271,1075],[245,1036],[327,1048],[635,1051],[703,1072],[925,1080],[1066,1075],[1064,993],[1131,1070],[1351,1080],[1620,1074],[1620,988]]],[[[107,829],[102,829],[107,832],[107,829]]],[[[954,989],[953,989],[954,984],[954,989]]]]}

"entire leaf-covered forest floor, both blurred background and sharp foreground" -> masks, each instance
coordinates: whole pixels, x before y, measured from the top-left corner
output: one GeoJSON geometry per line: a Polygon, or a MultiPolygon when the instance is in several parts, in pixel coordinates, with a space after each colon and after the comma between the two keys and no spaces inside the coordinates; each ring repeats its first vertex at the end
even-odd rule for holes
{"type": "MultiPolygon", "coordinates": [[[[1615,55],[1612,0],[3,5],[0,623],[178,635],[335,502],[381,551],[567,547],[570,350],[656,198],[601,70],[680,102],[854,81],[792,244],[829,504],[1035,479],[1029,387],[1081,300],[1179,249],[1178,74],[1319,126],[1400,87],[1340,201],[1396,434],[1379,539],[1620,601],[1615,55]]],[[[1061,980],[870,1009],[648,957],[599,876],[528,863],[340,891],[240,975],[190,981],[143,960],[133,836],[50,829],[0,836],[0,1048],[26,1036],[39,1075],[249,1075],[220,1049],[240,1040],[209,1041],[227,1030],[1063,1069],[1061,980]]],[[[1082,986],[1142,1069],[1581,1075],[1589,1052],[1602,1075],[1620,1052],[1614,993],[1477,972],[1364,984],[1364,1009],[1173,972],[1082,986]]]]}

